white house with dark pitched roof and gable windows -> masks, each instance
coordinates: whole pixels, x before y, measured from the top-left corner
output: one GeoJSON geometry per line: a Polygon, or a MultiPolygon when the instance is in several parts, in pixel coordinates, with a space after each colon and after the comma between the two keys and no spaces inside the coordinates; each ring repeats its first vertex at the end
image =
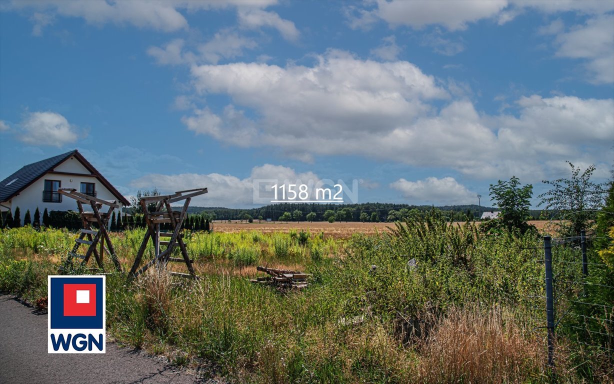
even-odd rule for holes
{"type": "Polygon", "coordinates": [[[21,217],[36,208],[47,211],[77,211],[77,203],[58,192],[60,188],[74,188],[102,200],[130,205],[117,189],[104,178],[76,149],[65,154],[31,163],[0,181],[0,211],[15,211],[21,217]]]}

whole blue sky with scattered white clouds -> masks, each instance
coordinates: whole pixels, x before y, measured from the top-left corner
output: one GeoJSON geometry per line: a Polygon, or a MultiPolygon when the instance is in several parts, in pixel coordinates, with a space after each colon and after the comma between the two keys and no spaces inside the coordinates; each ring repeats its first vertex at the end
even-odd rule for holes
{"type": "Polygon", "coordinates": [[[613,85],[614,1],[1,1],[0,178],[77,148],[127,196],[484,205],[565,160],[607,179],[613,85]]]}

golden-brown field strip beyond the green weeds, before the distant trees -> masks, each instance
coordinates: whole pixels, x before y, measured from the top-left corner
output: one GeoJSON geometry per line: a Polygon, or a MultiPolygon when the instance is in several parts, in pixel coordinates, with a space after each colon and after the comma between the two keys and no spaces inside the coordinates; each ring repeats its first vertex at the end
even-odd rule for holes
{"type": "MultiPolygon", "coordinates": [[[[544,230],[549,221],[529,221],[529,224],[535,225],[539,230],[544,230]]],[[[458,222],[456,224],[462,224],[458,222]]],[[[479,223],[478,223],[479,224],[479,223]]],[[[394,227],[391,222],[219,222],[213,224],[212,229],[216,232],[239,232],[241,230],[258,230],[263,233],[271,232],[289,232],[290,230],[309,230],[311,233],[324,232],[324,235],[334,238],[348,238],[352,233],[366,233],[372,235],[376,232],[388,230],[388,227],[394,227]]]]}

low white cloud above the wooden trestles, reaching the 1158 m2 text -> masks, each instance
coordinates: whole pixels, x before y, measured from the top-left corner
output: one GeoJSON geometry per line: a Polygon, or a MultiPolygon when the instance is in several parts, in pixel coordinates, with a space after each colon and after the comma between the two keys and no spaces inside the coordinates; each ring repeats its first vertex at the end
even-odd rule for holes
{"type": "Polygon", "coordinates": [[[134,180],[130,185],[134,189],[156,187],[163,193],[207,187],[208,193],[193,198],[192,205],[237,207],[253,204],[254,180],[258,179],[276,179],[279,184],[283,184],[284,181],[297,180],[304,183],[312,180],[319,181],[318,176],[313,172],[298,173],[292,168],[265,164],[252,168],[250,176],[244,179],[219,173],[147,174],[134,180]]]}

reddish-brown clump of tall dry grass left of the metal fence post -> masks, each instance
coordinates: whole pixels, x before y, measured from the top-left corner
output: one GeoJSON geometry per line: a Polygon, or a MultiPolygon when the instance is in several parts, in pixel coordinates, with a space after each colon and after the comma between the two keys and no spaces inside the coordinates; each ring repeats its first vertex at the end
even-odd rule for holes
{"type": "Polygon", "coordinates": [[[511,316],[452,310],[422,349],[420,382],[524,383],[543,377],[543,343],[511,316]]]}

